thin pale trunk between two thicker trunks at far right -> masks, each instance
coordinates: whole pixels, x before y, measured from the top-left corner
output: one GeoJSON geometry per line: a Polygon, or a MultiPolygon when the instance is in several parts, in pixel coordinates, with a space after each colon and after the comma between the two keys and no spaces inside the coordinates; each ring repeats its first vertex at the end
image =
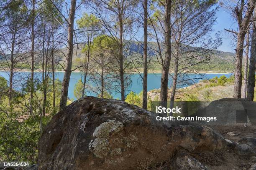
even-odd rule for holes
{"type": "Polygon", "coordinates": [[[247,74],[248,74],[248,55],[249,55],[249,41],[250,41],[250,34],[249,31],[247,32],[247,37],[246,37],[246,56],[244,59],[244,71],[243,71],[243,90],[242,90],[242,98],[246,98],[246,91],[247,91],[247,74]]]}

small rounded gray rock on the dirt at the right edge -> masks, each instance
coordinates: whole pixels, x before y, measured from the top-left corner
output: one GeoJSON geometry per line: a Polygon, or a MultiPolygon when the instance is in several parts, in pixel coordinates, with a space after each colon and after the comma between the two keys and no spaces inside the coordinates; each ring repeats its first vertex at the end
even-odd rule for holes
{"type": "Polygon", "coordinates": [[[250,158],[252,156],[256,156],[256,151],[254,150],[254,148],[246,144],[237,145],[235,147],[235,152],[244,158],[250,158]]]}

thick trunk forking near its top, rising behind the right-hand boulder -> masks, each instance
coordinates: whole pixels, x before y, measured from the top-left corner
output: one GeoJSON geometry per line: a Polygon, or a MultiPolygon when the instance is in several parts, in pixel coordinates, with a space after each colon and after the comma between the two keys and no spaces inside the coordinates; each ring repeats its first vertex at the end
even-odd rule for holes
{"type": "MultiPolygon", "coordinates": [[[[237,45],[236,45],[236,61],[235,61],[235,88],[234,88],[234,98],[241,98],[241,87],[242,87],[242,59],[243,59],[243,42],[244,37],[247,32],[247,27],[250,22],[251,15],[253,13],[254,4],[256,0],[250,0],[250,5],[246,14],[242,20],[242,15],[237,15],[239,32],[237,35],[237,45]],[[241,21],[241,22],[240,22],[241,21]]],[[[242,12],[241,12],[242,13],[242,12]]]]}

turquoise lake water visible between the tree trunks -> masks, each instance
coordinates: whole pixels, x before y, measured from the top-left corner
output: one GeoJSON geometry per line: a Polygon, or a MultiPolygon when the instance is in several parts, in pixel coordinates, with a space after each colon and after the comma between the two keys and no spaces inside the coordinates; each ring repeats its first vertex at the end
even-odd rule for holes
{"type": "MultiPolygon", "coordinates": [[[[26,80],[24,77],[28,76],[29,72],[19,72],[19,75],[17,75],[15,77],[16,80],[26,80]]],[[[225,75],[226,77],[230,77],[230,75],[232,75],[231,73],[206,73],[206,74],[187,74],[185,76],[182,76],[179,78],[179,80],[188,80],[186,82],[180,82],[178,87],[186,87],[189,84],[194,84],[196,82],[199,82],[200,80],[203,79],[211,79],[215,76],[220,77],[221,75],[225,75]],[[189,82],[189,84],[187,83],[189,82]]],[[[9,79],[9,76],[6,72],[0,71],[0,76],[5,77],[5,79],[9,79]]],[[[35,77],[41,78],[41,75],[39,72],[35,73],[35,77]]],[[[56,72],[55,78],[59,79],[59,80],[63,80],[64,77],[64,72],[56,72]]],[[[170,76],[169,76],[170,77],[170,76]]],[[[80,72],[72,72],[71,74],[71,79],[69,82],[69,92],[68,92],[68,96],[69,98],[73,98],[74,100],[76,100],[76,97],[74,97],[74,85],[77,83],[78,80],[81,79],[81,73],[80,72]]],[[[149,90],[153,90],[153,89],[159,89],[160,88],[160,80],[161,80],[161,73],[149,73],[148,74],[148,91],[149,90]]],[[[131,75],[131,87],[129,87],[129,90],[139,93],[142,90],[142,83],[141,83],[141,79],[140,76],[138,74],[133,74],[131,75]]],[[[90,83],[90,82],[89,82],[90,83]]],[[[169,86],[171,85],[172,81],[169,81],[169,86]]],[[[16,90],[20,88],[20,84],[21,82],[17,82],[17,85],[15,86],[16,90]]],[[[127,92],[129,93],[129,92],[127,92]]],[[[92,92],[87,92],[87,95],[92,95],[92,96],[96,96],[94,93],[92,92]]],[[[120,94],[119,93],[114,93],[112,94],[114,96],[114,98],[120,98],[120,94]]]]}

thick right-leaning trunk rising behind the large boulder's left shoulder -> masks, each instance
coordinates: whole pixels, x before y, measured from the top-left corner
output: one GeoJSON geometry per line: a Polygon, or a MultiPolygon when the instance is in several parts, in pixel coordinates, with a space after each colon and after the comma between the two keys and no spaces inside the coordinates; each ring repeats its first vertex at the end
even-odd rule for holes
{"type": "Polygon", "coordinates": [[[68,23],[68,52],[67,61],[64,78],[61,87],[61,99],[60,99],[60,109],[67,106],[67,97],[69,90],[69,80],[72,72],[72,57],[73,57],[73,38],[74,38],[74,16],[76,10],[77,0],[71,0],[70,10],[69,10],[69,23],[68,23]]]}

